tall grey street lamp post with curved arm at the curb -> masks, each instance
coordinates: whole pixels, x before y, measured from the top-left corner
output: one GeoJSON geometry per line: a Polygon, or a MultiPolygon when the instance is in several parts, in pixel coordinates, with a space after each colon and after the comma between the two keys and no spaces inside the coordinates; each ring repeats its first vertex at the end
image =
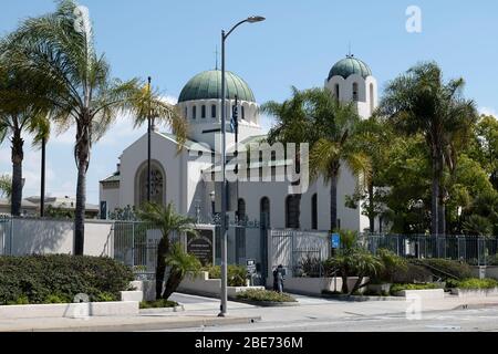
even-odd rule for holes
{"type": "Polygon", "coordinates": [[[228,37],[242,23],[256,23],[264,21],[263,17],[255,15],[240,21],[231,28],[228,33],[225,30],[221,31],[221,306],[218,316],[225,317],[227,313],[227,128],[226,128],[226,77],[225,77],[225,42],[228,37]]]}

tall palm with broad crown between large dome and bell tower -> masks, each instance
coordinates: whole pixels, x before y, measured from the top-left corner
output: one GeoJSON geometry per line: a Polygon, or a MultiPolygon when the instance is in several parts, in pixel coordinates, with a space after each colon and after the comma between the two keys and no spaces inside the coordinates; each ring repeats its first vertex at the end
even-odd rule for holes
{"type": "Polygon", "coordinates": [[[310,144],[310,175],[330,183],[330,226],[335,230],[341,167],[347,166],[354,176],[370,174],[370,160],[355,145],[361,118],[354,106],[339,102],[326,88],[293,88],[292,98],[269,102],[262,111],[277,118],[270,142],[310,144]]]}

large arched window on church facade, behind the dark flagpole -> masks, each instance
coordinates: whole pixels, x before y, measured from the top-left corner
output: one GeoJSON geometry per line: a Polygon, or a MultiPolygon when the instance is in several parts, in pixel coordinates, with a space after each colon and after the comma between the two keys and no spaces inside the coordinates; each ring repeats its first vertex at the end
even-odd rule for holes
{"type": "MultiPolygon", "coordinates": [[[[137,195],[138,206],[143,206],[147,202],[147,164],[145,163],[138,173],[137,181],[137,195]]],[[[151,202],[158,204],[160,206],[165,205],[165,191],[166,191],[166,178],[163,173],[163,168],[158,166],[157,163],[153,163],[151,166],[151,202]]]]}

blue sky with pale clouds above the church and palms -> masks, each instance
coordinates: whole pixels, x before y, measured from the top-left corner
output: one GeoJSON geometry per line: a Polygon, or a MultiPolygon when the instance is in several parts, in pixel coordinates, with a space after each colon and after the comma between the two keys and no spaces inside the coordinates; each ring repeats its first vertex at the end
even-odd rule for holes
{"type": "MultiPolygon", "coordinates": [[[[52,0],[1,0],[0,34],[20,20],[54,9],[52,0]]],[[[334,0],[81,0],[90,9],[98,51],[120,79],[152,75],[167,96],[177,97],[196,73],[215,67],[220,30],[251,14],[267,18],[246,24],[230,38],[227,69],[251,86],[259,103],[282,101],[290,86],[322,86],[332,65],[352,52],[370,64],[380,86],[413,64],[437,61],[445,75],[463,76],[466,95],[485,112],[498,108],[498,13],[496,0],[334,1],[334,0]],[[405,29],[408,6],[422,10],[422,33],[405,29]]],[[[381,93],[382,94],[382,93],[381,93]]],[[[266,126],[271,121],[267,119],[266,126]]],[[[94,146],[87,175],[90,202],[98,201],[98,180],[115,169],[121,152],[145,133],[118,119],[94,146]]],[[[73,196],[76,169],[74,133],[48,147],[48,192],[73,196]]],[[[27,142],[24,196],[39,195],[39,153],[27,142]]],[[[0,146],[0,174],[9,173],[8,142],[0,146]]]]}

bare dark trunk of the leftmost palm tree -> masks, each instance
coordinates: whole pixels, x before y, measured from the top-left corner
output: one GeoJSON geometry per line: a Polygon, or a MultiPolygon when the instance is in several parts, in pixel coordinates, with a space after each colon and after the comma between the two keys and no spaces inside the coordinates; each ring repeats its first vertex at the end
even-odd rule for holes
{"type": "Polygon", "coordinates": [[[11,196],[11,215],[13,217],[21,216],[22,202],[22,160],[24,140],[19,129],[14,131],[12,137],[12,196],[11,196]]]}

